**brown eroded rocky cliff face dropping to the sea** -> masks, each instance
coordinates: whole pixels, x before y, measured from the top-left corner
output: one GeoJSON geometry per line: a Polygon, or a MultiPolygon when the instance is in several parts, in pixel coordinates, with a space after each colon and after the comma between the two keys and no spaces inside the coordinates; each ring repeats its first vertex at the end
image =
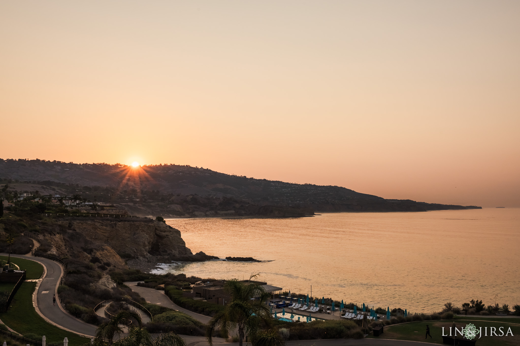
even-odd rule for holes
{"type": "Polygon", "coordinates": [[[42,234],[48,253],[95,261],[98,266],[108,262],[110,267],[127,269],[125,260],[157,263],[216,258],[193,255],[178,229],[155,220],[66,218],[58,225],[60,232],[42,234]]]}

